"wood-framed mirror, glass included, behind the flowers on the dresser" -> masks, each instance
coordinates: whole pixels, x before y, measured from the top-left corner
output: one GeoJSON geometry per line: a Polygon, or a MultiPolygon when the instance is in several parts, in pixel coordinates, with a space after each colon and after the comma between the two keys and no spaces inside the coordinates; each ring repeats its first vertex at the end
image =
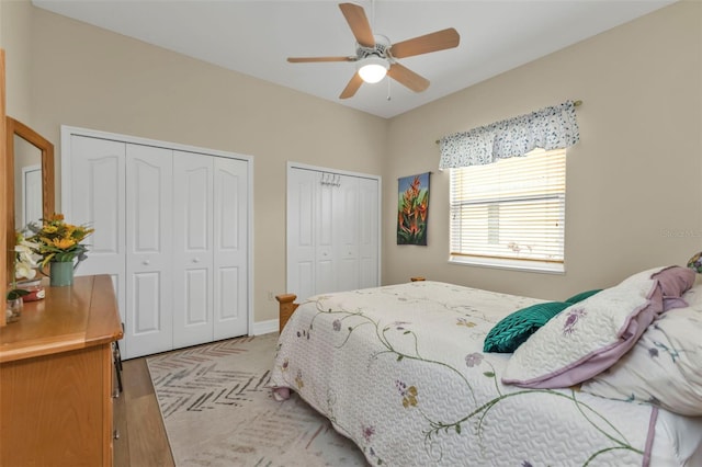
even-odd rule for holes
{"type": "MultiPolygon", "coordinates": [[[[14,232],[54,214],[54,145],[10,116],[5,118],[8,166],[8,251],[14,232]]],[[[8,255],[8,271],[13,271],[8,255]]],[[[11,276],[10,276],[11,278],[11,276]]]]}

